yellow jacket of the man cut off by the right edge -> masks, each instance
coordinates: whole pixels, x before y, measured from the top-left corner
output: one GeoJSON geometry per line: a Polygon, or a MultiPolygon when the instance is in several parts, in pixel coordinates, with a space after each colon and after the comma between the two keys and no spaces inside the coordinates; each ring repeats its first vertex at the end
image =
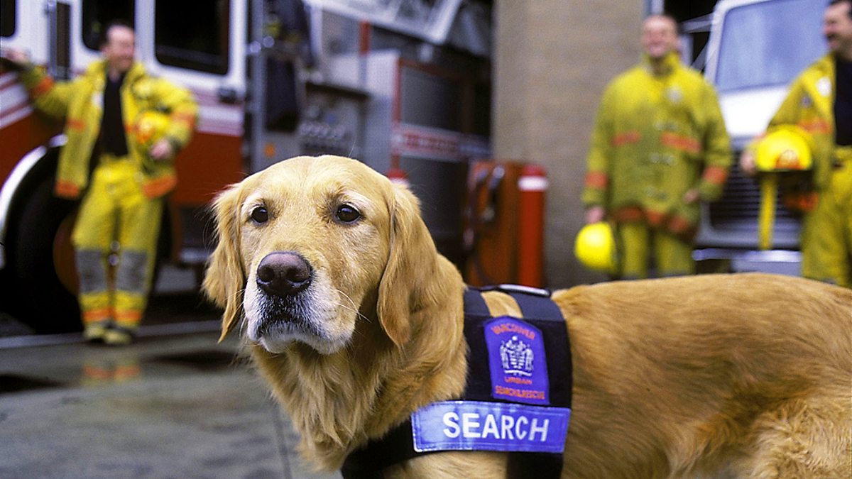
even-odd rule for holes
{"type": "Polygon", "coordinates": [[[790,93],[769,121],[769,130],[774,126],[795,124],[811,134],[814,139],[813,183],[817,191],[828,187],[835,157],[834,68],[831,54],[806,68],[793,80],[790,93]]]}

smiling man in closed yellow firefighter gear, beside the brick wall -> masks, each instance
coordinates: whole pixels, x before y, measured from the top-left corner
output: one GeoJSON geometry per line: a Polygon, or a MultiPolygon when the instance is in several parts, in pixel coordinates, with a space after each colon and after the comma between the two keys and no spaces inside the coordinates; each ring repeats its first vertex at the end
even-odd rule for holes
{"type": "Polygon", "coordinates": [[[701,200],[728,178],[730,141],[716,92],[677,55],[677,24],[654,14],[642,24],[642,64],[614,78],[592,132],[583,203],[586,223],[616,225],[619,271],[648,277],[694,273],[701,200]]]}

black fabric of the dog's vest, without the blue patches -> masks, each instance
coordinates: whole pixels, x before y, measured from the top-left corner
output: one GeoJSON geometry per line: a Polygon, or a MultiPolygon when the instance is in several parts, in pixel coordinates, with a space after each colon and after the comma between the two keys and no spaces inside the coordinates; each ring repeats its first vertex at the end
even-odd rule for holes
{"type": "MultiPolygon", "coordinates": [[[[498,286],[497,289],[515,298],[521,308],[523,320],[538,327],[543,332],[544,349],[551,371],[568,372],[559,380],[550,381],[550,404],[553,407],[571,407],[572,381],[571,350],[568,347],[567,327],[556,303],[550,301],[547,291],[530,288],[498,286]],[[541,291],[541,292],[537,292],[541,291]]],[[[486,290],[488,291],[488,290],[486,290]]],[[[492,319],[491,313],[480,290],[464,291],[464,337],[468,339],[468,378],[464,400],[507,402],[492,397],[491,376],[488,361],[471,361],[471,358],[487,358],[485,341],[472,340],[483,338],[484,325],[492,319]]],[[[402,461],[413,459],[431,451],[417,453],[412,445],[412,422],[410,419],[400,424],[381,439],[372,440],[367,445],[350,453],[343,463],[341,472],[346,479],[370,479],[381,477],[381,471],[402,461]]],[[[560,453],[507,453],[507,477],[511,479],[558,478],[562,470],[560,453]]]]}

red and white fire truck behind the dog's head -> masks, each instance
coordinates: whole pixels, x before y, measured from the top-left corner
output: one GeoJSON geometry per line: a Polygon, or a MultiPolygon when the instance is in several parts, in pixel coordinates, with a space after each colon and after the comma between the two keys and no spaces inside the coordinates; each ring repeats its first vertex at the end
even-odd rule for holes
{"type": "MultiPolygon", "coordinates": [[[[0,0],[0,57],[23,49],[55,78],[73,78],[99,58],[101,29],[123,19],[147,71],[192,89],[199,121],[176,159],[160,242],[172,264],[200,271],[207,205],[222,187],[320,153],[406,170],[452,256],[468,160],[488,151],[488,125],[477,119],[489,116],[486,8],[475,0],[0,0]],[[453,39],[458,28],[467,40],[453,39]]],[[[65,138],[8,66],[0,63],[0,314],[36,332],[72,331],[77,205],[52,195],[65,138]]]]}

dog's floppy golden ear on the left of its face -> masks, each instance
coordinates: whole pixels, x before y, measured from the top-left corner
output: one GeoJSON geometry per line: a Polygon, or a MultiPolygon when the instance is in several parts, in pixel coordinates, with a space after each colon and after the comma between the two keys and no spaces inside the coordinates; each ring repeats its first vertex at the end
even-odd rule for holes
{"type": "Polygon", "coordinates": [[[213,203],[218,243],[210,256],[203,287],[207,297],[225,309],[220,341],[243,314],[245,272],[239,260],[239,202],[237,184],[219,193],[213,203]]]}

